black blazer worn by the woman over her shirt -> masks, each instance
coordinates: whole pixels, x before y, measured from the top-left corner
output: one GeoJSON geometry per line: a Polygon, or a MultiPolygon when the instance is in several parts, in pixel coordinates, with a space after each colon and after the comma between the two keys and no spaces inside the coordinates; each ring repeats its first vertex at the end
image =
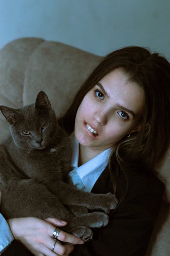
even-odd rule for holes
{"type": "MultiPolygon", "coordinates": [[[[117,171],[116,184],[118,199],[124,199],[109,213],[109,224],[93,229],[93,238],[84,245],[76,245],[70,256],[144,256],[153,224],[158,215],[163,184],[153,175],[139,168],[126,167],[125,175],[117,171]],[[128,185],[128,189],[126,191],[128,185]]],[[[103,171],[93,193],[113,193],[113,185],[108,168],[103,171]]],[[[14,241],[2,256],[26,256],[23,246],[14,241]]]]}

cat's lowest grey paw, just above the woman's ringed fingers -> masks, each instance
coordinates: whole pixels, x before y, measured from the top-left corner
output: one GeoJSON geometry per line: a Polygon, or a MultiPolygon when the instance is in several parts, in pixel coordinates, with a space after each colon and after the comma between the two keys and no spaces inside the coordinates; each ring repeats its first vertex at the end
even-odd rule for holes
{"type": "Polygon", "coordinates": [[[69,231],[69,233],[79,237],[83,241],[87,242],[92,239],[93,232],[90,228],[85,226],[78,226],[69,231]]]}

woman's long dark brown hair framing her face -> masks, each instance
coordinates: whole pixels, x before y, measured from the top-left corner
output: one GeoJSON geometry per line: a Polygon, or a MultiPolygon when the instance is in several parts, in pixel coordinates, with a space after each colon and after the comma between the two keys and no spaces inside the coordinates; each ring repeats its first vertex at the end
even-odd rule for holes
{"type": "Polygon", "coordinates": [[[140,131],[117,143],[109,166],[128,163],[153,168],[167,150],[170,137],[170,63],[158,53],[151,54],[145,48],[129,46],[108,54],[79,89],[62,125],[68,133],[73,132],[75,116],[86,93],[119,67],[145,91],[145,110],[140,131]]]}

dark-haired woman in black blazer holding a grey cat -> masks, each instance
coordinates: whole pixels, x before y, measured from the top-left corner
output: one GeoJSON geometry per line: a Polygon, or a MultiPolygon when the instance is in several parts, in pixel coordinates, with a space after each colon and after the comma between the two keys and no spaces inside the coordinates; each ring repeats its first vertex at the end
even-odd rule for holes
{"type": "Polygon", "coordinates": [[[70,183],[115,193],[119,204],[109,213],[109,224],[94,229],[88,243],[62,230],[54,243],[55,227],[66,225],[55,219],[10,219],[15,239],[38,256],[69,255],[73,249],[70,255],[76,256],[145,255],[163,194],[152,170],[169,144],[169,85],[169,62],[157,53],[134,46],[107,55],[60,123],[76,138],[70,183]]]}

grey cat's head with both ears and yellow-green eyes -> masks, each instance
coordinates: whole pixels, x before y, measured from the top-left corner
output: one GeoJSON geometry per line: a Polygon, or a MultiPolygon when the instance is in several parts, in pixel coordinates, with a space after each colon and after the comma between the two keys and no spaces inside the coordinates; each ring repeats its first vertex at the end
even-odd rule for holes
{"type": "Polygon", "coordinates": [[[10,123],[14,143],[25,150],[45,149],[55,136],[57,121],[47,95],[40,92],[35,104],[12,109],[0,107],[10,123]]]}

